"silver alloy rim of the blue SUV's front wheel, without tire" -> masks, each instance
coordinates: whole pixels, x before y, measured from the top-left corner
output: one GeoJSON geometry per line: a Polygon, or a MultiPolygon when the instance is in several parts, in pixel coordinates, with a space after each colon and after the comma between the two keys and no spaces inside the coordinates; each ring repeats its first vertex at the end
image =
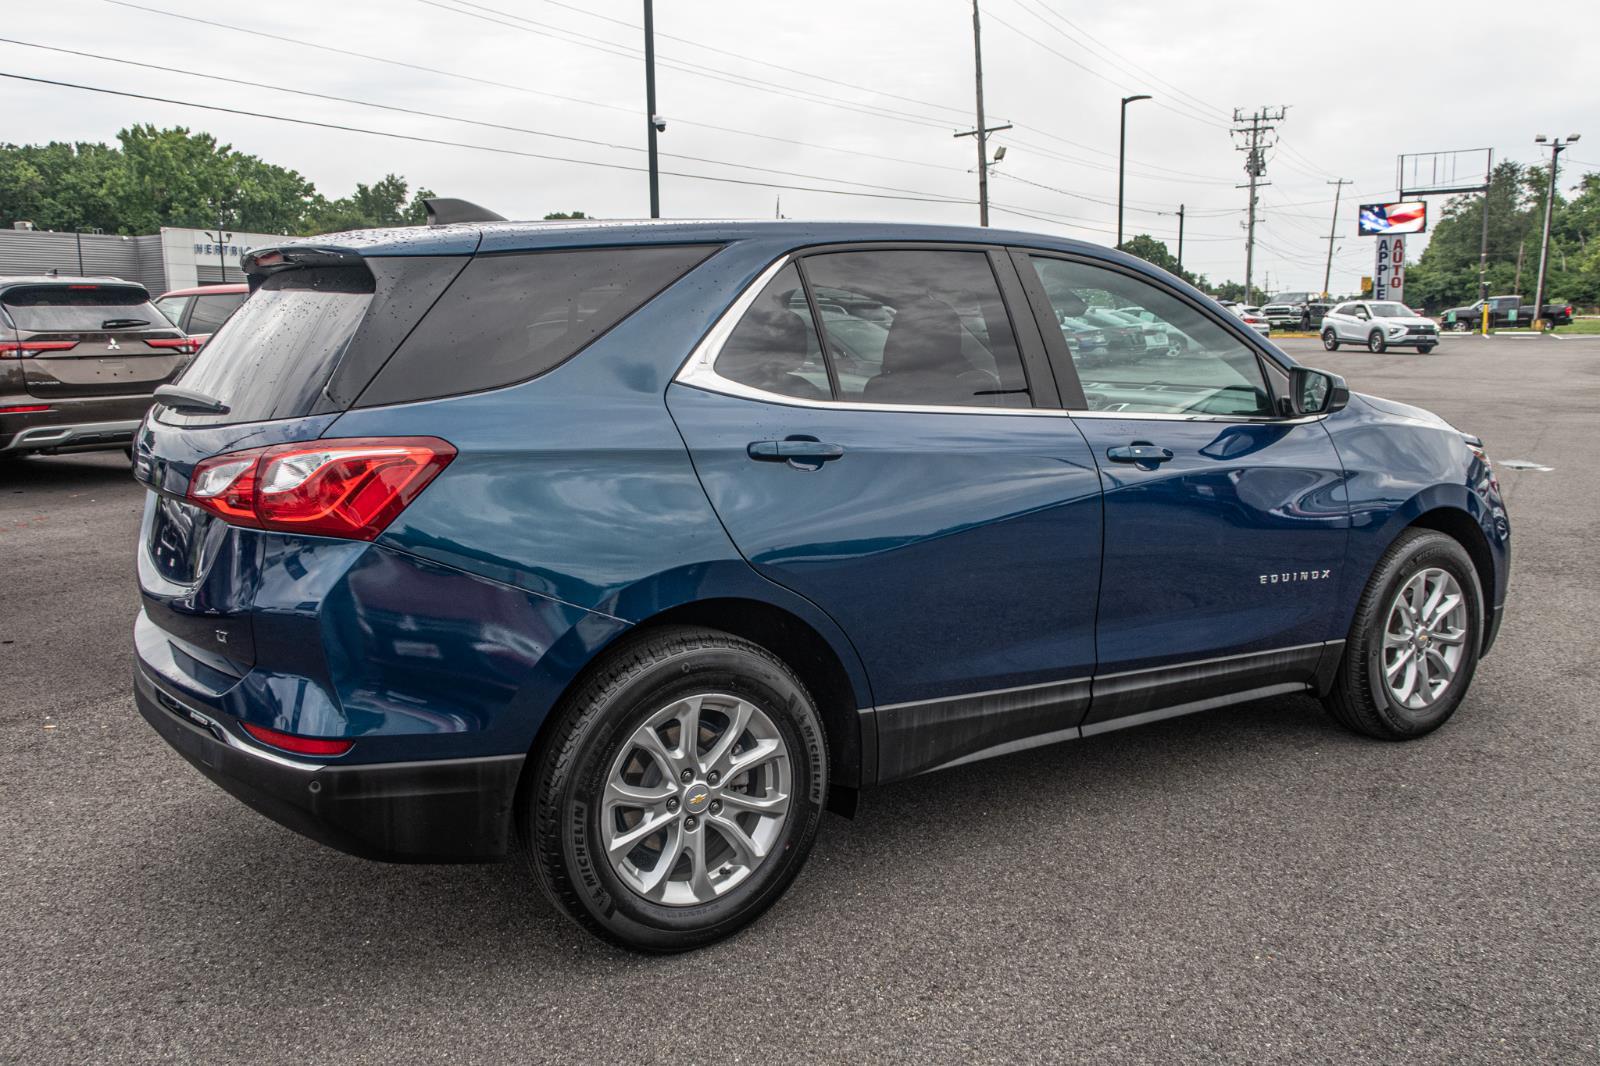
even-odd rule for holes
{"type": "Polygon", "coordinates": [[[1384,688],[1408,711],[1426,711],[1454,682],[1467,648],[1467,597],[1448,571],[1411,575],[1389,602],[1384,621],[1384,688]]]}

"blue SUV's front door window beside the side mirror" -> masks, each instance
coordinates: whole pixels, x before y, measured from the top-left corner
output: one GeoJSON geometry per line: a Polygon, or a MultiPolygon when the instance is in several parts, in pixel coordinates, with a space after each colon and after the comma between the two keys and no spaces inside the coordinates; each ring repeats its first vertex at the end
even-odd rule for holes
{"type": "Polygon", "coordinates": [[[1256,352],[1149,282],[1032,256],[1091,411],[1272,415],[1256,352]]]}

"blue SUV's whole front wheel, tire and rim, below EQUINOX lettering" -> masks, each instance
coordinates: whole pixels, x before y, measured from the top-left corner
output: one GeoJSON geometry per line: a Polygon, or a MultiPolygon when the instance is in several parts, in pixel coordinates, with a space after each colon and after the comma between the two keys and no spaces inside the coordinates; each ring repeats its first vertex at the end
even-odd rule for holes
{"type": "Polygon", "coordinates": [[[1456,712],[1472,683],[1483,634],[1483,594],[1461,544],[1408,530],[1366,583],[1328,712],[1357,733],[1411,739],[1456,712]]]}

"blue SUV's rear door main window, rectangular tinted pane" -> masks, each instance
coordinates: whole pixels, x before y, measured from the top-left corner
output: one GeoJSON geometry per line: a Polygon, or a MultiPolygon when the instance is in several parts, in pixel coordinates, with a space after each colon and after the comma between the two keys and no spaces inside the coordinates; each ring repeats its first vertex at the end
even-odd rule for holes
{"type": "Polygon", "coordinates": [[[984,251],[830,251],[802,259],[838,399],[1032,407],[984,251]]]}

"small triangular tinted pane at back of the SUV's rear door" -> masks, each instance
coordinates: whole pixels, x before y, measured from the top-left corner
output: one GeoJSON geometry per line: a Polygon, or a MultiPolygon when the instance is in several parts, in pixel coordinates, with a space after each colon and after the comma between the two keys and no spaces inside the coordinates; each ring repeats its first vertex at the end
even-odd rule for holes
{"type": "Polygon", "coordinates": [[[800,400],[832,395],[811,307],[794,264],[779,271],[739,319],[717,354],[717,373],[800,400]]]}

